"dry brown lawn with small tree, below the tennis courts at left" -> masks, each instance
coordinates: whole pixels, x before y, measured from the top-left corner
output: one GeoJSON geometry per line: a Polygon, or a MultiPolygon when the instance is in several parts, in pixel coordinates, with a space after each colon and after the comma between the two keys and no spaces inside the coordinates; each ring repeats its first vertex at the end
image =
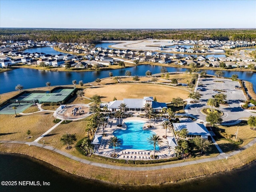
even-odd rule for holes
{"type": "Polygon", "coordinates": [[[33,141],[54,126],[52,113],[37,113],[20,116],[0,115],[0,140],[33,141]],[[27,130],[31,131],[32,138],[27,139],[27,130]]]}

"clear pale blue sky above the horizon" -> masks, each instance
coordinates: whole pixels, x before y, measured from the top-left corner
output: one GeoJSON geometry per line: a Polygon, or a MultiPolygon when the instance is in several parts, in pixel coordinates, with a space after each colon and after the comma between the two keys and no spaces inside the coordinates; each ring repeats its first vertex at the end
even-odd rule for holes
{"type": "Polygon", "coordinates": [[[0,0],[0,28],[256,28],[256,0],[0,0]]]}

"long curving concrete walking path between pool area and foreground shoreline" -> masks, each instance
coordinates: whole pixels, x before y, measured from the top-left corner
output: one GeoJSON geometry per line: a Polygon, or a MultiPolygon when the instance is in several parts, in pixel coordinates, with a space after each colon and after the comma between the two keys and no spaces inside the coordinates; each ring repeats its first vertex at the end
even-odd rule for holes
{"type": "Polygon", "coordinates": [[[243,150],[251,147],[253,144],[256,143],[256,138],[252,140],[250,143],[247,145],[243,146],[239,150],[236,150],[234,152],[231,152],[229,154],[219,154],[216,157],[211,157],[211,158],[205,158],[205,159],[200,159],[200,160],[194,160],[194,161],[187,161],[187,162],[182,162],[182,163],[176,163],[176,164],[168,164],[168,165],[161,165],[161,166],[150,166],[150,167],[124,167],[124,166],[115,166],[115,165],[109,165],[109,164],[103,164],[103,163],[96,163],[92,161],[88,161],[76,156],[73,156],[67,152],[61,151],[59,149],[56,149],[52,146],[47,146],[43,144],[39,144],[38,142],[25,142],[25,141],[5,141],[5,140],[0,140],[0,143],[11,143],[11,144],[27,144],[29,146],[38,146],[44,149],[52,150],[58,154],[61,154],[63,156],[66,156],[72,160],[84,163],[84,164],[89,164],[93,166],[98,166],[98,167],[103,167],[103,168],[110,168],[110,169],[116,169],[116,170],[130,170],[130,171],[147,171],[147,170],[160,170],[160,169],[167,169],[167,168],[174,168],[174,167],[180,167],[180,166],[186,166],[186,165],[192,165],[192,164],[198,164],[198,163],[204,163],[204,162],[210,162],[210,161],[216,161],[216,160],[222,160],[225,158],[229,158],[233,155],[236,155],[243,150]]]}

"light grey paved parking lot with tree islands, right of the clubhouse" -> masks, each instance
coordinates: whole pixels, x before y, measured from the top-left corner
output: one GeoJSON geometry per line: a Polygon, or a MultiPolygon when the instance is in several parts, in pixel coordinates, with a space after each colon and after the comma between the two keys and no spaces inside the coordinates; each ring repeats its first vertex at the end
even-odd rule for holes
{"type": "Polygon", "coordinates": [[[240,107],[240,102],[246,98],[240,89],[235,89],[235,86],[240,87],[238,81],[232,81],[224,78],[200,78],[196,91],[201,94],[200,103],[190,104],[188,112],[196,118],[206,120],[206,115],[202,114],[202,108],[208,108],[208,99],[216,94],[223,93],[227,95],[229,106],[220,106],[219,109],[224,113],[222,116],[223,123],[233,122],[239,118],[244,118],[252,115],[250,112],[244,111],[240,107]],[[213,90],[219,90],[214,92],[213,90]]]}

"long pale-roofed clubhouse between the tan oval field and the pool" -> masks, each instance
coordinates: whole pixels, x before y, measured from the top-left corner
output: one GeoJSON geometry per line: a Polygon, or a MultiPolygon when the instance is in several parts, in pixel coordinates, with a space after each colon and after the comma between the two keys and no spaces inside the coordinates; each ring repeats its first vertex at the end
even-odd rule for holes
{"type": "Polygon", "coordinates": [[[162,112],[163,108],[167,108],[166,103],[160,103],[154,101],[153,97],[144,97],[143,99],[129,99],[115,100],[108,103],[108,110],[116,111],[120,110],[119,106],[121,103],[126,104],[127,111],[143,111],[146,103],[151,104],[153,112],[162,112]]]}

